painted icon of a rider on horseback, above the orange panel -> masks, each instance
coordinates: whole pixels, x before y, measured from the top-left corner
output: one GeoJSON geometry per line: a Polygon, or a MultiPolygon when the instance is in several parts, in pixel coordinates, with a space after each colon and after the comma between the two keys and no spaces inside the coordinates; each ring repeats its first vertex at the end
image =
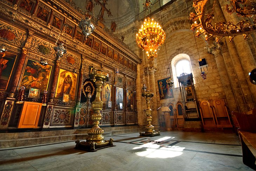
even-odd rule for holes
{"type": "Polygon", "coordinates": [[[20,87],[47,90],[51,69],[52,66],[43,66],[39,62],[28,59],[20,87]]]}

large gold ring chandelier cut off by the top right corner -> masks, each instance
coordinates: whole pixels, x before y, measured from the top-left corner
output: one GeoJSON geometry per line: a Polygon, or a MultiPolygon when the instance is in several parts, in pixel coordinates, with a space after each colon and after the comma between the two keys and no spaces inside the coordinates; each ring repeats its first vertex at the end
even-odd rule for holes
{"type": "Polygon", "coordinates": [[[190,19],[194,21],[191,25],[191,30],[194,31],[196,28],[196,37],[199,37],[202,33],[205,35],[205,39],[208,42],[211,37],[215,37],[217,43],[220,42],[222,37],[228,36],[229,41],[233,42],[233,39],[237,35],[243,35],[244,39],[247,39],[248,34],[256,30],[256,20],[252,17],[256,14],[255,0],[230,0],[230,4],[226,5],[225,11],[229,14],[236,13],[238,17],[241,16],[243,20],[238,23],[218,22],[212,24],[214,19],[214,7],[213,11],[206,13],[206,5],[209,0],[193,0],[193,7],[195,8],[196,14],[191,12],[190,19]],[[244,18],[246,17],[246,19],[244,18]],[[251,18],[251,19],[249,19],[251,18]],[[200,23],[197,23],[199,20],[200,23]]]}

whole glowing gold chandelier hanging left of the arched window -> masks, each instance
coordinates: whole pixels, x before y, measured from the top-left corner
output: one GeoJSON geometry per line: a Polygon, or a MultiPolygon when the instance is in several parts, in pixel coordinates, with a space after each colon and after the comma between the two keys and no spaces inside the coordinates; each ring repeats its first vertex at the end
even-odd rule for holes
{"type": "Polygon", "coordinates": [[[145,50],[148,59],[154,60],[157,57],[157,49],[163,44],[166,34],[161,26],[154,19],[145,19],[139,33],[136,34],[137,45],[145,50]]]}

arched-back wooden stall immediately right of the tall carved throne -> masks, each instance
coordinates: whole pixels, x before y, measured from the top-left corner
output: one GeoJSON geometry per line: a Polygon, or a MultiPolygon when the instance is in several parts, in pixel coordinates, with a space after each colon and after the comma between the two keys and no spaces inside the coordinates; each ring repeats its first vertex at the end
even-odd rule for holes
{"type": "Polygon", "coordinates": [[[203,122],[204,128],[216,128],[216,122],[213,116],[213,110],[211,109],[211,105],[207,100],[202,100],[199,102],[200,104],[200,113],[203,122]]]}

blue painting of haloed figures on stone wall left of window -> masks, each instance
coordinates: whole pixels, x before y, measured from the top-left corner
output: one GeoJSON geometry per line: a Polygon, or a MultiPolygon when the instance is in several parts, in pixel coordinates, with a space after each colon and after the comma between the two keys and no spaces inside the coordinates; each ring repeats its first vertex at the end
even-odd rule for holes
{"type": "Polygon", "coordinates": [[[167,84],[169,78],[164,78],[162,80],[158,80],[158,89],[160,100],[173,98],[173,89],[167,84]]]}

